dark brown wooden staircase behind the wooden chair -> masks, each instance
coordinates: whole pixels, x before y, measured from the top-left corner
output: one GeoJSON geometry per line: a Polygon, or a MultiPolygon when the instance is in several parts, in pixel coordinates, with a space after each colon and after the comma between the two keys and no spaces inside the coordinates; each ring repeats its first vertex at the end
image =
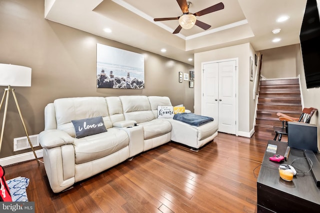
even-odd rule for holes
{"type": "MultiPolygon", "coordinates": [[[[298,78],[261,80],[254,131],[257,136],[273,139],[273,126],[282,126],[277,112],[299,117],[302,111],[298,78]]],[[[281,141],[287,141],[283,136],[281,141]]]]}

